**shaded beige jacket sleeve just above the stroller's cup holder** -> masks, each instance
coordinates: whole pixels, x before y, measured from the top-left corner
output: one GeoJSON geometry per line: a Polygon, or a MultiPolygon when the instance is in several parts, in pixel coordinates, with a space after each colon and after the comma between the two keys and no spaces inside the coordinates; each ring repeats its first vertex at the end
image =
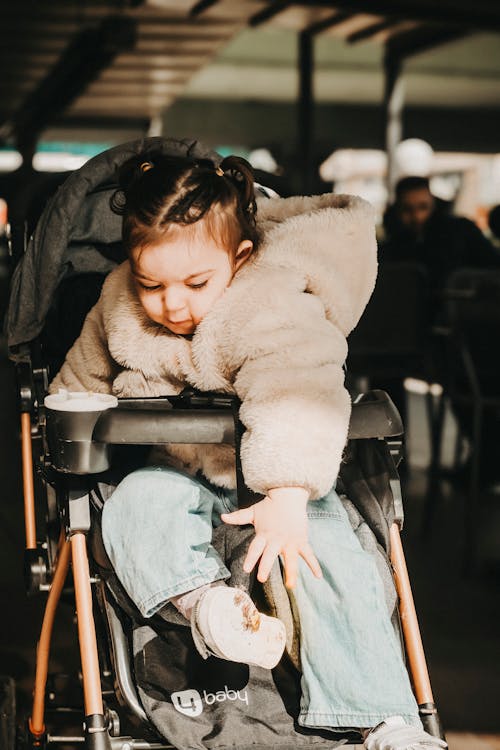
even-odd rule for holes
{"type": "Polygon", "coordinates": [[[70,391],[97,391],[111,393],[118,366],[106,343],[102,316],[102,297],[91,309],[49,391],[59,388],[70,391]]]}

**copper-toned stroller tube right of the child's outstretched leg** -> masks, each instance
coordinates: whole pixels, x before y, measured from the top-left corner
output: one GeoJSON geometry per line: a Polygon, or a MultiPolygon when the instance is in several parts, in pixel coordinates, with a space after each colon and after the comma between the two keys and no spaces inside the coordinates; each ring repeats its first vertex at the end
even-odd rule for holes
{"type": "Polygon", "coordinates": [[[401,544],[399,526],[393,523],[390,531],[391,562],[394,569],[394,582],[399,596],[399,613],[406,646],[410,674],[415,689],[417,703],[434,703],[431,682],[425,660],[424,647],[418,626],[417,612],[413,601],[410,578],[401,544]]]}

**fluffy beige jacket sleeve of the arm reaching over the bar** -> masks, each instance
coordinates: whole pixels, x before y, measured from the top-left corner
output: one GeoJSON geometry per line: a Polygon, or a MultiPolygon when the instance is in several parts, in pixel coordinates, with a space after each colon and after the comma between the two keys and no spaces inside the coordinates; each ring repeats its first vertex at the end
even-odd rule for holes
{"type": "Polygon", "coordinates": [[[317,499],[333,486],[347,439],[346,340],[307,292],[281,290],[260,310],[240,331],[234,383],[245,481],[264,494],[305,487],[317,499]]]}

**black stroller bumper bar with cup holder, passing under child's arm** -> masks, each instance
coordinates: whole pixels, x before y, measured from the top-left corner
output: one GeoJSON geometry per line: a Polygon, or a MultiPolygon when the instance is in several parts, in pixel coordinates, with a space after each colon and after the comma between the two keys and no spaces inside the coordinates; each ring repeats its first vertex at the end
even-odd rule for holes
{"type": "MultiPolygon", "coordinates": [[[[46,410],[47,439],[58,471],[95,474],[110,465],[111,445],[238,442],[239,402],[234,396],[190,392],[154,399],[120,399],[96,411],[46,410]]],[[[403,433],[384,391],[361,396],[352,407],[349,439],[391,438],[403,433]]]]}

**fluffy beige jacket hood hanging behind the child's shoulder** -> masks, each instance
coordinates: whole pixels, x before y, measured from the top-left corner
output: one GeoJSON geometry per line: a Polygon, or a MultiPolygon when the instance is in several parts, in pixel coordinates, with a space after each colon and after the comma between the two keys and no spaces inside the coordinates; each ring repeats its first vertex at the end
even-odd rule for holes
{"type": "Polygon", "coordinates": [[[271,198],[258,201],[257,217],[263,240],[254,262],[301,275],[306,291],[321,299],[327,318],[347,336],[375,285],[373,206],[333,193],[271,198]]]}

